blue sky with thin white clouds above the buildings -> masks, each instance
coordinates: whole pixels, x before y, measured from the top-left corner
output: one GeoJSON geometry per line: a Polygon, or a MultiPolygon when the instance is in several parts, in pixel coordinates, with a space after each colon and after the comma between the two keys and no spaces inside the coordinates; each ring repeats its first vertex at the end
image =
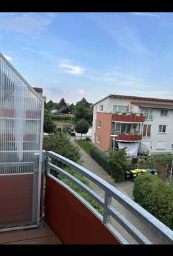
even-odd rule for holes
{"type": "Polygon", "coordinates": [[[0,52],[55,102],[173,99],[173,13],[0,13],[0,52]]]}

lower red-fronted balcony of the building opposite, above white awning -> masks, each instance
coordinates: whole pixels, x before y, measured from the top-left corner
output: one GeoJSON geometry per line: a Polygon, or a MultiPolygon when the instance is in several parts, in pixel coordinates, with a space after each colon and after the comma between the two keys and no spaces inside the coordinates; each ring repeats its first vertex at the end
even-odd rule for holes
{"type": "Polygon", "coordinates": [[[140,123],[113,123],[112,139],[119,142],[139,142],[142,140],[142,125],[140,123]]]}

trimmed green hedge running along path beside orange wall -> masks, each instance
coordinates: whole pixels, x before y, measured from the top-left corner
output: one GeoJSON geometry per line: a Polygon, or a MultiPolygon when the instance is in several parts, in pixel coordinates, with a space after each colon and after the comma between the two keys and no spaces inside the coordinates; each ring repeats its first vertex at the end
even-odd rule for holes
{"type": "Polygon", "coordinates": [[[103,167],[103,169],[110,175],[111,174],[111,168],[109,165],[109,159],[105,152],[100,150],[99,148],[92,147],[90,150],[91,157],[100,165],[103,167]]]}

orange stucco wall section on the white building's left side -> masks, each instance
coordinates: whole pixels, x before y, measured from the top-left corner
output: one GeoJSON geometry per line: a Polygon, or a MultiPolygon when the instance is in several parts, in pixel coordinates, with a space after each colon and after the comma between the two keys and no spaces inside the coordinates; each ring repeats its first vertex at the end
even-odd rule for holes
{"type": "Polygon", "coordinates": [[[96,128],[95,128],[95,144],[107,151],[112,147],[112,113],[97,113],[96,128]],[[98,121],[101,121],[101,128],[98,128],[98,121]],[[100,143],[97,142],[97,135],[100,135],[100,143]]]}

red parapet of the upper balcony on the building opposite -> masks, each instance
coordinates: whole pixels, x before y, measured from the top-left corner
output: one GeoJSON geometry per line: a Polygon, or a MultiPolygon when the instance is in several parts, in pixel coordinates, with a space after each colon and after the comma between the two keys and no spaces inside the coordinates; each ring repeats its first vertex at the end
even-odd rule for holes
{"type": "Polygon", "coordinates": [[[145,121],[145,117],[143,114],[112,114],[112,121],[143,123],[145,121]]]}

